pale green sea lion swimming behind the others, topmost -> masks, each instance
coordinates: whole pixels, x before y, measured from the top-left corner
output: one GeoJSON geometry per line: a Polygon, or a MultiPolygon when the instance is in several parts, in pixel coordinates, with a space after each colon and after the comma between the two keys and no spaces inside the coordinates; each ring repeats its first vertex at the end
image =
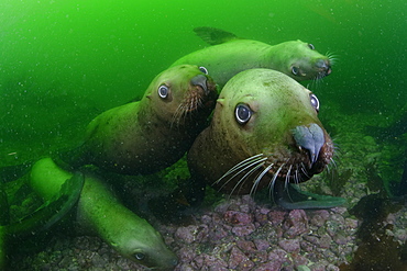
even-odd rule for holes
{"type": "Polygon", "coordinates": [[[180,64],[204,66],[220,87],[238,72],[252,68],[278,70],[297,81],[320,79],[331,74],[332,57],[319,54],[312,44],[299,39],[270,45],[238,38],[213,27],[194,31],[213,46],[186,55],[170,67],[180,64]]]}

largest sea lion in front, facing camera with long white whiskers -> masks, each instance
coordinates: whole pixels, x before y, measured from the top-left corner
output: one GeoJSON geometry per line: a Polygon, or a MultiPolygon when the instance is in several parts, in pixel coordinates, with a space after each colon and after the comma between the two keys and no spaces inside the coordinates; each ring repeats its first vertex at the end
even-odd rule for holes
{"type": "Polygon", "coordinates": [[[287,183],[309,180],[332,159],[333,144],[318,111],[317,97],[282,72],[238,74],[222,89],[209,127],[188,151],[193,182],[202,180],[230,194],[253,194],[268,187],[287,208],[343,203],[338,197],[296,203],[283,196],[287,183]]]}

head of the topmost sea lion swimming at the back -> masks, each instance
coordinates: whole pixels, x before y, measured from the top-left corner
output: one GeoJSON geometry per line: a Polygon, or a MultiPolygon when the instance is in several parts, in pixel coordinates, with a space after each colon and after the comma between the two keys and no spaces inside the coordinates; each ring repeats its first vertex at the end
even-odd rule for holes
{"type": "Polygon", "coordinates": [[[321,55],[310,43],[290,41],[275,45],[273,49],[280,59],[278,70],[296,81],[321,79],[332,71],[332,56],[321,55]]]}

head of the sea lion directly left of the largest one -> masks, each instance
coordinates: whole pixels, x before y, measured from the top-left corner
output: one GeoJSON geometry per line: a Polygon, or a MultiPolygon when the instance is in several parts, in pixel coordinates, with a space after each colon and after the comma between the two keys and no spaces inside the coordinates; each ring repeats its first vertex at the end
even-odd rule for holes
{"type": "Polygon", "coordinates": [[[218,91],[205,67],[179,65],[161,72],[145,97],[161,120],[185,125],[199,121],[200,116],[208,117],[216,105],[218,91]]]}

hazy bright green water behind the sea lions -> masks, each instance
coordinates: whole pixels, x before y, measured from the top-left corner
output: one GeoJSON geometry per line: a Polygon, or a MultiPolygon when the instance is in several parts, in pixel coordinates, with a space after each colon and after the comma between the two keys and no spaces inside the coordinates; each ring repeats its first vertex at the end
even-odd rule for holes
{"type": "Polygon", "coordinates": [[[332,74],[302,84],[342,150],[339,170],[366,182],[358,172],[370,166],[388,187],[402,179],[406,129],[372,127],[406,123],[406,13],[402,0],[2,0],[0,166],[77,143],[96,115],[141,98],[158,72],[207,46],[194,27],[213,26],[333,54],[332,74]]]}

